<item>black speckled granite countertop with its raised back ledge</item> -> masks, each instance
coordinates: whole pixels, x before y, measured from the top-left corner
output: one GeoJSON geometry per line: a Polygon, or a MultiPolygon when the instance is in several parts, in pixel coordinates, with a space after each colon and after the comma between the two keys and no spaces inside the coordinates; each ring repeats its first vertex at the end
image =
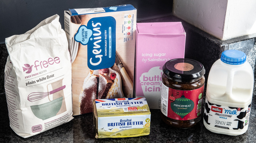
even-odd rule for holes
{"type": "MultiPolygon", "coordinates": [[[[172,22],[180,21],[175,17],[164,17],[154,20],[139,21],[139,22],[172,22]]],[[[185,57],[198,60],[203,63],[206,68],[206,77],[214,61],[220,58],[222,51],[228,48],[234,48],[234,45],[241,47],[241,41],[249,41],[248,44],[255,49],[255,35],[243,36],[240,38],[221,41],[213,36],[182,22],[187,34],[186,38],[186,51],[185,57]],[[251,41],[251,42],[250,42],[251,41]]],[[[246,44],[246,42],[243,42],[246,44]]],[[[242,45],[243,46],[243,45],[242,45]]],[[[248,47],[248,46],[245,46],[248,47]]],[[[255,52],[250,52],[255,57],[255,52]]],[[[16,135],[9,124],[7,102],[4,93],[4,66],[8,56],[5,44],[0,44],[0,142],[2,143],[43,143],[43,142],[56,142],[56,143],[90,143],[90,142],[121,142],[121,143],[148,143],[148,142],[168,142],[168,143],[255,143],[256,142],[256,91],[254,85],[253,100],[250,114],[249,127],[245,134],[238,136],[229,136],[215,134],[208,131],[203,125],[203,119],[193,128],[178,129],[172,128],[164,124],[160,119],[160,110],[151,111],[151,126],[150,134],[147,136],[129,137],[129,138],[103,138],[96,139],[93,128],[93,115],[92,113],[75,116],[73,120],[38,135],[29,138],[22,138],[16,135]]],[[[255,58],[250,58],[252,67],[255,65],[255,58]],[[254,61],[253,61],[254,58],[254,61]]],[[[254,70],[255,74],[255,70],[254,70]]],[[[255,84],[255,82],[254,82],[255,84]]],[[[205,98],[205,97],[204,97],[205,98]]],[[[204,107],[204,106],[203,106],[204,107]]]]}

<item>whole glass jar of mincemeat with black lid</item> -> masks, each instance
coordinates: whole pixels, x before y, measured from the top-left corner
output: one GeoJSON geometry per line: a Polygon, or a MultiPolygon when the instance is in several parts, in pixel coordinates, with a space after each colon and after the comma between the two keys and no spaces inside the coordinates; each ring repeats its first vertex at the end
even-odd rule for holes
{"type": "Polygon", "coordinates": [[[178,58],[163,65],[161,119],[168,125],[190,128],[201,120],[204,91],[203,65],[178,58]]]}

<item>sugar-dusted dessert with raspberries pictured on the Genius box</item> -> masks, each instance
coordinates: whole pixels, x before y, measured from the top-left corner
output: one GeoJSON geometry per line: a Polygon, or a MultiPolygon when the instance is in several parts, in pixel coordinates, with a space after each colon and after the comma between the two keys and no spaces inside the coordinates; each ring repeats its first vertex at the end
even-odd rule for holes
{"type": "Polygon", "coordinates": [[[80,114],[93,111],[94,99],[123,98],[121,76],[111,68],[91,70],[79,95],[80,114]]]}

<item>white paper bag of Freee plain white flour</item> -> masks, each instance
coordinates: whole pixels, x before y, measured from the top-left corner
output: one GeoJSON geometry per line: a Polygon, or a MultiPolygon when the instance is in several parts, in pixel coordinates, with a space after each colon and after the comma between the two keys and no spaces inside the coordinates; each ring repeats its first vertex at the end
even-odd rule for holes
{"type": "Polygon", "coordinates": [[[73,119],[71,58],[59,16],[5,42],[5,93],[13,131],[26,138],[73,119]]]}

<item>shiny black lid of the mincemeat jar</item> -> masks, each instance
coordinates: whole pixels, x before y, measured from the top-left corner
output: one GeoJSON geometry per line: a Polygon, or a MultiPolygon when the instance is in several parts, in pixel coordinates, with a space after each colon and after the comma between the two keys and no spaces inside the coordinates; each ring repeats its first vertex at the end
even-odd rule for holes
{"type": "Polygon", "coordinates": [[[189,81],[201,78],[205,73],[205,69],[196,60],[177,58],[167,61],[163,65],[163,72],[170,78],[189,81]]]}

